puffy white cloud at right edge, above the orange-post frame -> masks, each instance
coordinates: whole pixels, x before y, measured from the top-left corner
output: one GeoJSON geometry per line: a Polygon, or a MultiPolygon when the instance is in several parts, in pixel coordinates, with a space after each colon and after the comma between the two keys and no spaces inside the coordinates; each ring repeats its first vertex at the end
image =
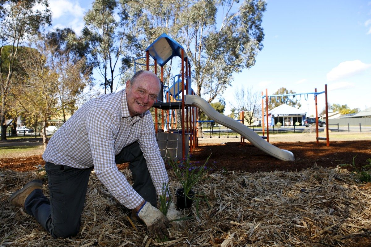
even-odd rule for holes
{"type": "Polygon", "coordinates": [[[360,60],[345,61],[327,73],[328,81],[335,81],[361,73],[371,67],[371,64],[362,63],[360,60]]]}

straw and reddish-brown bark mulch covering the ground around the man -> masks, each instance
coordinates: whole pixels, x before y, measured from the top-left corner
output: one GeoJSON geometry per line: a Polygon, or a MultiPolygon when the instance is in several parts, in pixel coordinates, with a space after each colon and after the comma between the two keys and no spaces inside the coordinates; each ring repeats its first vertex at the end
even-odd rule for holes
{"type": "MultiPolygon", "coordinates": [[[[238,142],[200,146],[192,161],[211,154],[209,179],[194,188],[201,202],[183,211],[191,215],[183,232],[168,228],[165,241],[132,226],[125,210],[92,173],[80,234],[53,239],[22,208],[9,205],[10,195],[27,181],[42,177],[41,157],[0,159],[0,246],[371,246],[371,184],[359,184],[339,164],[358,167],[371,158],[371,141],[275,143],[294,153],[280,161],[238,142]],[[24,164],[24,165],[22,165],[24,164]],[[22,172],[21,172],[22,171],[22,172]]],[[[121,171],[131,181],[126,164],[121,171]]],[[[168,171],[170,189],[179,187],[168,171]]],[[[47,195],[47,180],[44,180],[47,195]]]]}

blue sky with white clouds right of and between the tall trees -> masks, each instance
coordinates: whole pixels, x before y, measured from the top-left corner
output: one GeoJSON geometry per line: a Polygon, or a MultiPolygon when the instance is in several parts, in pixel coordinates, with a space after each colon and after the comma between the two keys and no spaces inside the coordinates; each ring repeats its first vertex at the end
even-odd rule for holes
{"type": "MultiPolygon", "coordinates": [[[[92,1],[51,0],[53,27],[83,28],[83,15],[92,1]]],[[[280,87],[296,93],[328,89],[330,104],[351,109],[371,107],[371,1],[361,0],[267,0],[262,23],[264,48],[249,70],[234,75],[223,94],[236,106],[240,86],[275,93],[280,87]]],[[[300,103],[308,115],[315,113],[313,95],[300,103]]],[[[318,110],[325,107],[318,96],[318,110]]]]}

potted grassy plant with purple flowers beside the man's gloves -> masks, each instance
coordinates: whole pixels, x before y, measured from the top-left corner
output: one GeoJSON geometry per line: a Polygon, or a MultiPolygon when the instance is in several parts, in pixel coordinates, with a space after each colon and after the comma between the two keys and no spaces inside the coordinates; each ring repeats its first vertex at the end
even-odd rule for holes
{"type": "MultiPolygon", "coordinates": [[[[210,154],[211,156],[211,154],[210,154]]],[[[173,168],[175,176],[179,179],[181,185],[184,189],[184,196],[190,198],[189,192],[191,188],[199,183],[200,181],[206,180],[206,174],[211,170],[207,168],[206,164],[209,161],[209,157],[207,157],[205,163],[201,166],[197,164],[199,161],[192,163],[190,161],[191,155],[188,153],[187,158],[181,160],[168,160],[169,165],[173,168]]],[[[193,199],[193,198],[190,198],[193,199]]],[[[207,200],[206,200],[207,201],[207,200]]]]}

